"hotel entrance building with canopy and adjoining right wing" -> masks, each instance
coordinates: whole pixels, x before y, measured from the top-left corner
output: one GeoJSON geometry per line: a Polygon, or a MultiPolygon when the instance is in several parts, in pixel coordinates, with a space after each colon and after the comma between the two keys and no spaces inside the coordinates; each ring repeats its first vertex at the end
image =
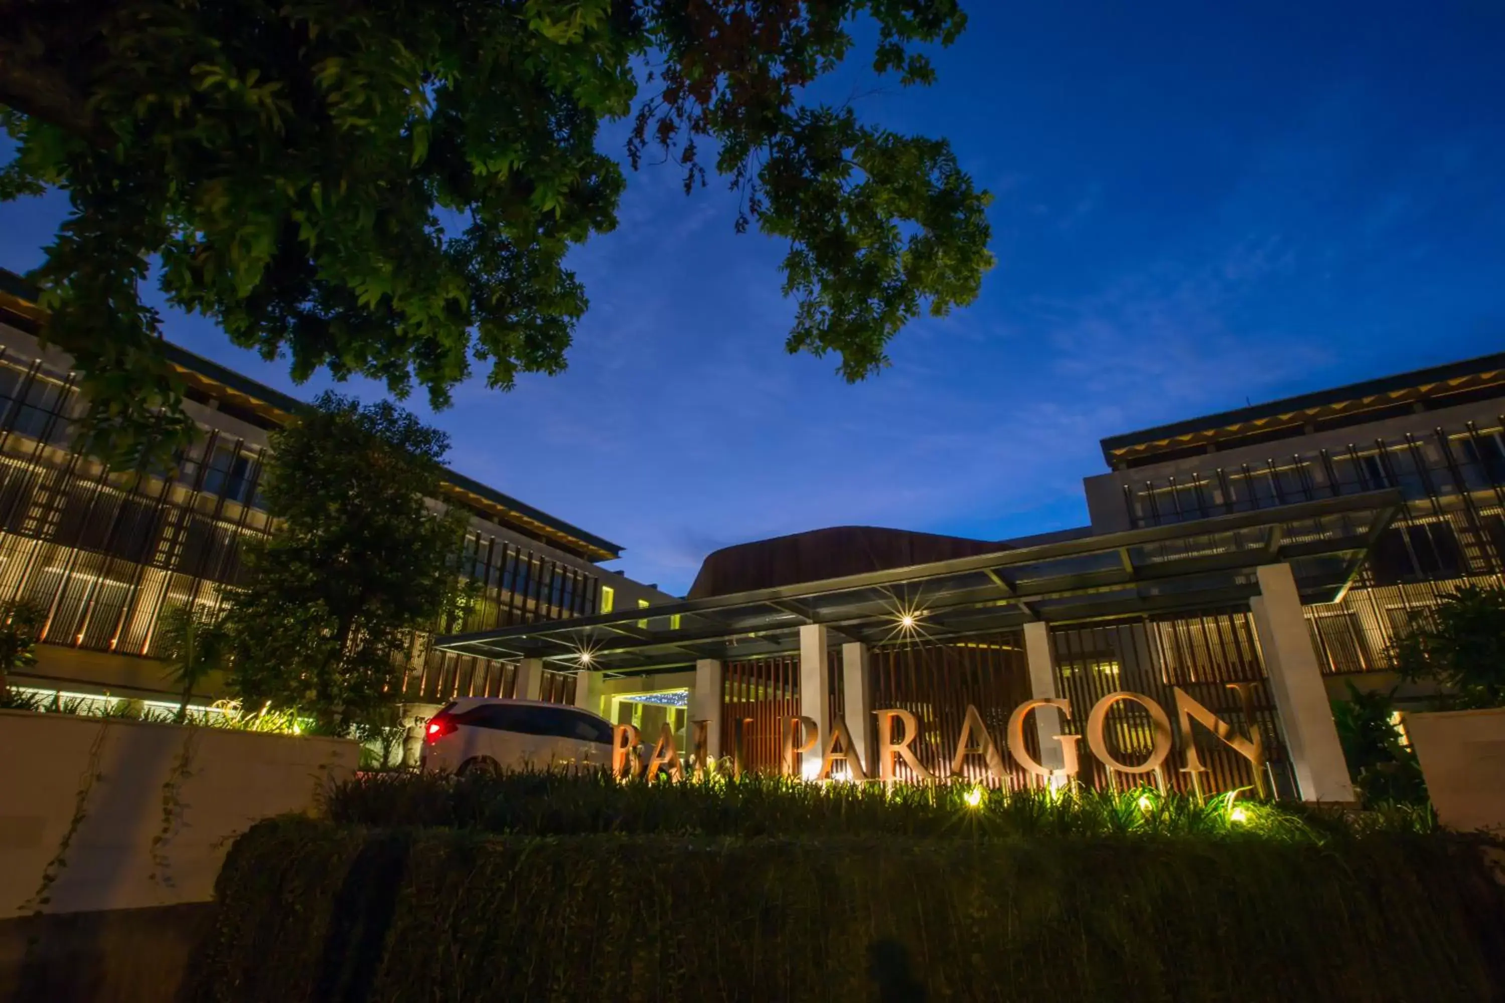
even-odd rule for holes
{"type": "Polygon", "coordinates": [[[1097,786],[1350,801],[1329,699],[1394,686],[1412,617],[1505,580],[1502,414],[1505,355],[1206,415],[1105,439],[1078,529],[820,529],[712,553],[647,618],[436,644],[573,672],[579,705],[737,768],[829,774],[849,735],[868,776],[1075,758],[1097,786]]]}

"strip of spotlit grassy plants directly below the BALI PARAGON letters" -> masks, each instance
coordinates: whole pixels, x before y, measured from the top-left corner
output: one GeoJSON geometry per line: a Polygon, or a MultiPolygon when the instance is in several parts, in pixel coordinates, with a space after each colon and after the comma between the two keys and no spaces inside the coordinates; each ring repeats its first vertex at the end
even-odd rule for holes
{"type": "Polygon", "coordinates": [[[339,783],[325,812],[351,826],[578,836],[929,836],[1060,839],[1195,836],[1324,842],[1362,832],[1431,832],[1430,809],[1342,812],[1299,801],[1206,801],[1153,788],[983,789],[971,785],[807,783],[749,774],[712,782],[620,783],[602,771],[373,773],[339,783]],[[972,798],[977,798],[975,801],[972,798]]]}

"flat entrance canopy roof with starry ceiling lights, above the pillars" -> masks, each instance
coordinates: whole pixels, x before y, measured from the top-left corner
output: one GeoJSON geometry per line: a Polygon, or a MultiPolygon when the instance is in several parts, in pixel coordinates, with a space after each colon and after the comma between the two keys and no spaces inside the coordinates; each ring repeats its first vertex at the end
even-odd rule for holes
{"type": "Polygon", "coordinates": [[[1078,623],[1248,601],[1261,564],[1291,565],[1303,603],[1353,583],[1401,511],[1397,490],[1132,529],[1064,543],[802,582],[649,609],[518,624],[436,639],[485,659],[632,674],[799,650],[799,627],[832,644],[963,639],[1032,620],[1078,623]]]}

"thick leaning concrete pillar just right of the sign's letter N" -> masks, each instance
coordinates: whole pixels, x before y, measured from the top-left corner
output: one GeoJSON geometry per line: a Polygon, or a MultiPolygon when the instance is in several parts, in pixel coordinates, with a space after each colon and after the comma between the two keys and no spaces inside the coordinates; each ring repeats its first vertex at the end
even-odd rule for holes
{"type": "Polygon", "coordinates": [[[1257,576],[1260,594],[1249,600],[1249,609],[1302,800],[1351,801],[1348,764],[1302,615],[1296,576],[1290,564],[1266,564],[1257,576]]]}

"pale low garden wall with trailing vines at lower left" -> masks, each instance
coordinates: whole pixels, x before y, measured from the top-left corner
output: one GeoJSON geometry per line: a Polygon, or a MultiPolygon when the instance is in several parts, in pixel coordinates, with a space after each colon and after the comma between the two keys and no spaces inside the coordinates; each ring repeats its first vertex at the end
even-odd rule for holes
{"type": "Polygon", "coordinates": [[[0,920],[208,901],[230,842],[354,774],[336,738],[0,711],[0,920]]]}

